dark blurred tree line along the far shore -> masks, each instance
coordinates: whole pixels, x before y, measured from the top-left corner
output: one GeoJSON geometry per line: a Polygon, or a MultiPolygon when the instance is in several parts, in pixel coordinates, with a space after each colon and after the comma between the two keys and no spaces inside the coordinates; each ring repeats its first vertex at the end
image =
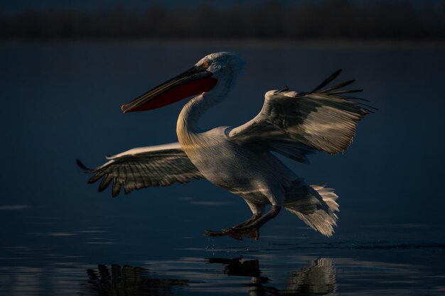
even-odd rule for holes
{"type": "Polygon", "coordinates": [[[424,2],[267,1],[226,8],[200,4],[14,13],[0,8],[0,38],[445,40],[445,2],[424,2]]]}

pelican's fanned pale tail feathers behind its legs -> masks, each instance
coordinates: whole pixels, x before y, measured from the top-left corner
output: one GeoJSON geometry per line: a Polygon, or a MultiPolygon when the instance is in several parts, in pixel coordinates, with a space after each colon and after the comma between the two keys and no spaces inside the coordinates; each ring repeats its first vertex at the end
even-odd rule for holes
{"type": "Polygon", "coordinates": [[[297,179],[286,194],[288,199],[283,204],[285,209],[323,236],[333,235],[333,226],[337,225],[338,219],[334,213],[338,212],[338,195],[332,188],[326,188],[325,185],[306,185],[297,179]]]}

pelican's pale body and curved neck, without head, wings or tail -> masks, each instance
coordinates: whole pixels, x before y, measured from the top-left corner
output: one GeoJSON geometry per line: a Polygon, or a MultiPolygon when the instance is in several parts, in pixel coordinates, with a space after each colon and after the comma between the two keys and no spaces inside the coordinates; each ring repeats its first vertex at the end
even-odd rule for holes
{"type": "Polygon", "coordinates": [[[184,152],[205,179],[239,195],[254,213],[264,204],[284,201],[283,188],[296,178],[272,153],[252,150],[230,140],[230,126],[209,131],[191,128],[198,118],[189,116],[191,106],[202,104],[202,95],[191,100],[178,118],[176,134],[184,152]]]}

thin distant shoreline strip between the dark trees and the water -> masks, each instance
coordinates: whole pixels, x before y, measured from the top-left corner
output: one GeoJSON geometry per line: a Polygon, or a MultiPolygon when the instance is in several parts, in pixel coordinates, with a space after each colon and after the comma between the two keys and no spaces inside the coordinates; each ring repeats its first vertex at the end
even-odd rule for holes
{"type": "Polygon", "coordinates": [[[240,48],[320,48],[320,49],[390,49],[445,48],[445,40],[269,40],[269,39],[64,39],[17,38],[0,40],[0,47],[9,45],[67,45],[110,44],[183,47],[240,47],[240,48]]]}

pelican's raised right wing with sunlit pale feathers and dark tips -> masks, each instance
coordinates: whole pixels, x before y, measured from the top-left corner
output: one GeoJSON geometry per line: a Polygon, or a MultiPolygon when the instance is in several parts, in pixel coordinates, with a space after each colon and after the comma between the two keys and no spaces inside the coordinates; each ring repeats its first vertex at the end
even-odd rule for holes
{"type": "Polygon", "coordinates": [[[338,90],[355,80],[323,89],[340,72],[309,93],[289,91],[287,87],[267,92],[259,114],[233,128],[230,140],[242,146],[274,150],[300,162],[306,162],[306,155],[317,150],[343,153],[353,141],[358,121],[374,108],[346,95],[361,89],[338,90]]]}

